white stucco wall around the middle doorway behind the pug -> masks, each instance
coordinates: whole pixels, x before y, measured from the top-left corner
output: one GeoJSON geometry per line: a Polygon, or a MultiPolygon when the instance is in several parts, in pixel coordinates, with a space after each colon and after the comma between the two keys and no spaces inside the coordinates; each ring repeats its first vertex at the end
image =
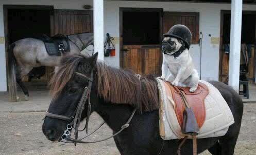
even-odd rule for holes
{"type": "MultiPolygon", "coordinates": [[[[203,34],[201,77],[203,80],[218,81],[219,44],[211,44],[211,37],[220,34],[220,10],[230,10],[231,4],[178,3],[178,2],[138,2],[138,1],[105,1],[105,33],[119,37],[119,8],[163,8],[164,11],[199,12],[199,32],[203,34]],[[209,36],[211,34],[211,37],[209,36]]],[[[255,5],[244,5],[243,10],[256,10],[255,5]]],[[[105,57],[111,66],[120,66],[119,45],[116,44],[116,56],[105,57]]],[[[199,70],[200,48],[192,45],[190,53],[199,70]]]]}

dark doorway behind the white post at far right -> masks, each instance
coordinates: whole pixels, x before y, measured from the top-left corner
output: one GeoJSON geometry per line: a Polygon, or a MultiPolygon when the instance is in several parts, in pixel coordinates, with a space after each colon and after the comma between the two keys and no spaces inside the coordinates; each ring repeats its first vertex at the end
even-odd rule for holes
{"type": "MultiPolygon", "coordinates": [[[[228,82],[228,76],[229,76],[230,22],[231,22],[230,11],[226,11],[226,10],[221,11],[220,47],[219,47],[220,48],[219,49],[219,56],[220,56],[219,81],[226,82],[226,83],[228,82]]],[[[256,61],[255,29],[256,29],[256,11],[243,11],[240,68],[241,69],[244,68],[244,70],[246,70],[247,73],[246,73],[246,76],[241,75],[240,80],[249,80],[250,82],[255,81],[255,61],[256,61]]],[[[241,69],[240,69],[240,72],[245,72],[245,71],[241,71],[241,69]]]]}

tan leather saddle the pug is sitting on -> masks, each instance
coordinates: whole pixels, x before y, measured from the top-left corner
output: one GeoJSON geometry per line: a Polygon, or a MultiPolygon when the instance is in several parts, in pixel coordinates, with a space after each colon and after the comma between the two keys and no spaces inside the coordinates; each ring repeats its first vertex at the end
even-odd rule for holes
{"type": "Polygon", "coordinates": [[[190,92],[190,87],[177,87],[171,85],[169,82],[165,81],[170,91],[172,92],[172,97],[175,102],[175,113],[179,122],[180,127],[183,124],[183,112],[185,111],[185,103],[182,100],[181,92],[185,96],[185,99],[191,109],[194,112],[196,122],[198,124],[199,129],[202,127],[204,121],[206,120],[206,108],[204,106],[204,99],[209,94],[208,87],[199,82],[198,87],[195,92],[190,92]]]}

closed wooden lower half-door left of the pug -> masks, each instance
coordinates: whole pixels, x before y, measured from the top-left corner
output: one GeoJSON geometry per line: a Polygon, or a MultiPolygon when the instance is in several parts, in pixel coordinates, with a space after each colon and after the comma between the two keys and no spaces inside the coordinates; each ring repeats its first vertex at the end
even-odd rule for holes
{"type": "Polygon", "coordinates": [[[159,45],[124,45],[123,67],[138,74],[161,74],[159,45]]]}

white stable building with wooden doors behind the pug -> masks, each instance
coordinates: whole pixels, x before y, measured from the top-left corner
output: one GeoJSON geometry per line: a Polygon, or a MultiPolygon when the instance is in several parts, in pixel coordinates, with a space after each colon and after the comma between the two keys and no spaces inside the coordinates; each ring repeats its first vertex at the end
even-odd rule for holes
{"type": "MultiPolygon", "coordinates": [[[[248,78],[255,81],[255,4],[253,0],[243,4],[242,0],[232,4],[203,0],[1,1],[0,91],[8,90],[8,45],[41,34],[93,31],[94,51],[99,52],[100,60],[140,74],[161,75],[162,34],[175,24],[186,25],[192,31],[190,54],[201,79],[229,82],[238,90],[241,64],[247,65],[248,78]],[[107,33],[113,37],[115,53],[104,56],[107,33]]],[[[53,69],[42,70],[45,74],[41,79],[27,85],[46,85],[53,69]]]]}

